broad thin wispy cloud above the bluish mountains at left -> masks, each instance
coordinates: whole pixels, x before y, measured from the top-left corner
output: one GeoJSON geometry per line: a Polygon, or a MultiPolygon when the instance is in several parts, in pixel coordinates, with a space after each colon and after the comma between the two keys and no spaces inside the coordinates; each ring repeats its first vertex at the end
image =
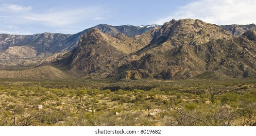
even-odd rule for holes
{"type": "Polygon", "coordinates": [[[0,33],[28,34],[27,31],[75,33],[82,31],[78,28],[85,28],[89,22],[105,19],[109,10],[102,6],[70,6],[41,8],[36,10],[33,6],[21,6],[17,4],[0,4],[0,24],[12,25],[20,28],[1,27],[0,33]],[[86,24],[86,25],[85,25],[86,24]],[[34,30],[27,29],[28,27],[34,30]],[[77,29],[75,29],[77,28],[77,29]],[[23,31],[19,31],[23,30],[23,31]]]}

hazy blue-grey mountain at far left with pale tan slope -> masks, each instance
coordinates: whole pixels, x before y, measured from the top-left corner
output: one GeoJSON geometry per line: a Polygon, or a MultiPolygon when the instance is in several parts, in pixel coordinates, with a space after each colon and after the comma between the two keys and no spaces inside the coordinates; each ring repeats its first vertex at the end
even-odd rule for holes
{"type": "Polygon", "coordinates": [[[69,51],[67,42],[70,34],[0,34],[0,66],[33,65],[54,53],[69,51]]]}

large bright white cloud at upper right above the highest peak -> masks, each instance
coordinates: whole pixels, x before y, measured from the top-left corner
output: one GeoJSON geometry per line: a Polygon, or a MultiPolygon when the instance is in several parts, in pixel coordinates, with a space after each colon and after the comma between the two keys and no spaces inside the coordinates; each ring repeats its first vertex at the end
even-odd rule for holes
{"type": "Polygon", "coordinates": [[[171,16],[159,18],[154,24],[163,24],[172,18],[201,19],[208,23],[251,24],[256,23],[256,0],[199,0],[180,7],[171,16]]]}

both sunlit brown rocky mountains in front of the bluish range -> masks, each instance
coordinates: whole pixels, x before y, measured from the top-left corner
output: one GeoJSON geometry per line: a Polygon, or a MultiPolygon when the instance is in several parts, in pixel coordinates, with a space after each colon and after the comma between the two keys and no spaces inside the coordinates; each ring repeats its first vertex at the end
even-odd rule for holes
{"type": "Polygon", "coordinates": [[[198,19],[172,19],[135,37],[95,28],[51,65],[93,78],[187,79],[256,76],[256,33],[240,36],[198,19]]]}

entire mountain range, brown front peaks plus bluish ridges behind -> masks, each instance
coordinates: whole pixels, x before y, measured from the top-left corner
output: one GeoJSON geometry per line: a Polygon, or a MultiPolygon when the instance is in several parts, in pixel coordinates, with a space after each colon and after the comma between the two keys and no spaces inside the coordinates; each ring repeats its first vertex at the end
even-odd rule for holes
{"type": "Polygon", "coordinates": [[[255,30],[255,24],[172,19],[162,26],[98,25],[72,35],[0,34],[0,65],[116,80],[256,77],[255,30]]]}

